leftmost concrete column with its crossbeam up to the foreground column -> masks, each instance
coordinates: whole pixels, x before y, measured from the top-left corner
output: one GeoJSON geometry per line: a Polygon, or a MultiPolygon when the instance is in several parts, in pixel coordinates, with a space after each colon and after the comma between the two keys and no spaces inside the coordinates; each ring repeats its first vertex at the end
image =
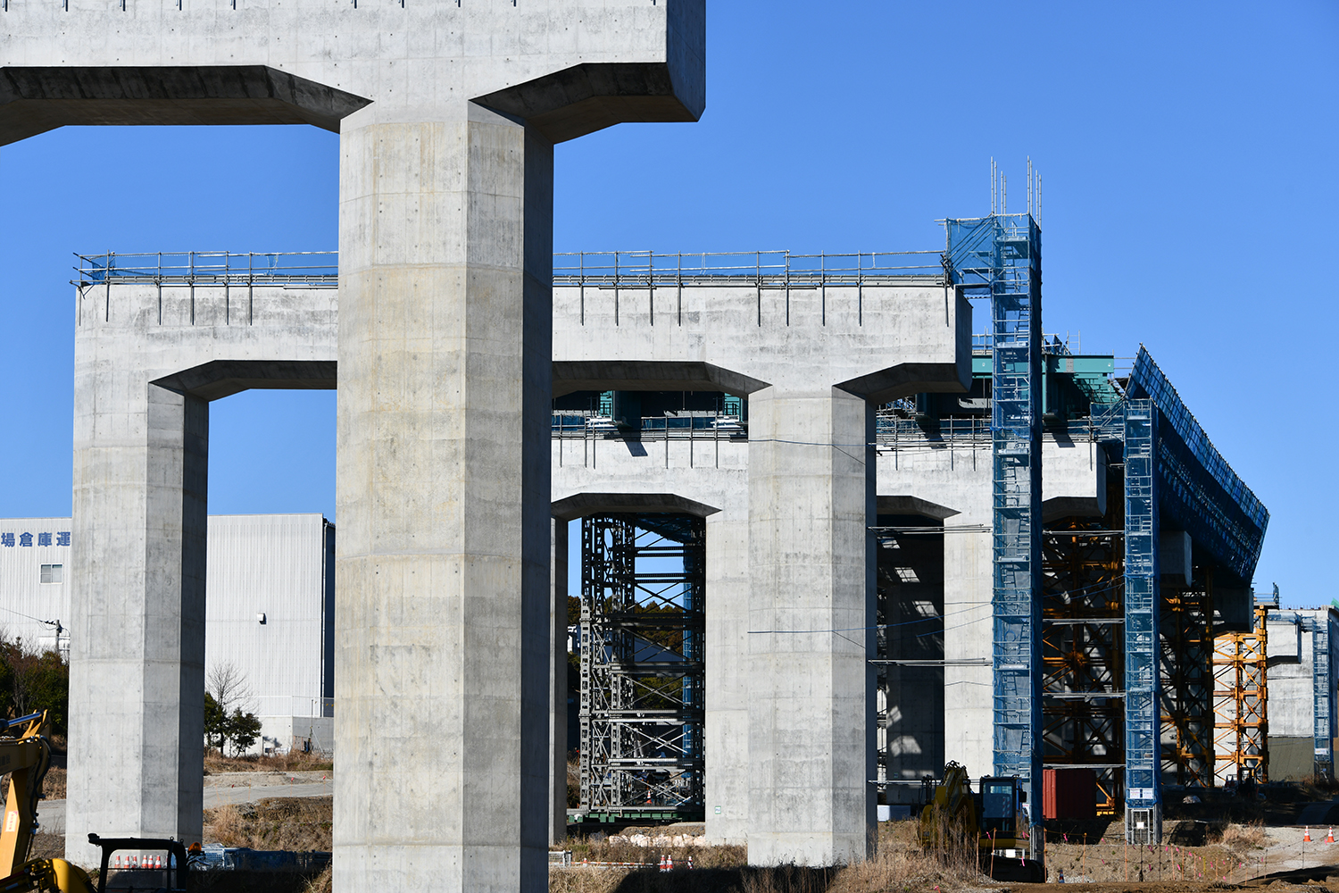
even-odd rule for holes
{"type": "Polygon", "coordinates": [[[78,296],[67,839],[86,864],[90,831],[201,830],[209,400],[335,386],[333,289],[257,288],[249,324],[234,299],[78,296]]]}

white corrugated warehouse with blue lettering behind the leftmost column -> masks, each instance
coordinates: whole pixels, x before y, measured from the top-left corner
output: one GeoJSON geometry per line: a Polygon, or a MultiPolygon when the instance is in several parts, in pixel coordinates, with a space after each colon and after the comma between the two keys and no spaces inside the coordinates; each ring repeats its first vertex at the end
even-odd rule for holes
{"type": "MultiPolygon", "coordinates": [[[[40,621],[68,627],[68,544],[70,518],[0,519],[0,627],[11,639],[52,648],[55,628],[40,621]],[[62,582],[42,582],[52,564],[62,582]]],[[[236,664],[258,716],[332,715],[333,544],[320,514],[209,518],[205,667],[236,664]]]]}

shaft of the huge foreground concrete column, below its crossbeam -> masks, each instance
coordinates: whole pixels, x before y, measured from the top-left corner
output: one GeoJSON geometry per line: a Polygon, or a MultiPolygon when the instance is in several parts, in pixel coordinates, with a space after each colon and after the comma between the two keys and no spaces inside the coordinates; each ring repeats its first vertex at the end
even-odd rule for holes
{"type": "Polygon", "coordinates": [[[553,147],[465,106],[340,131],[340,890],[548,884],[553,147]]]}

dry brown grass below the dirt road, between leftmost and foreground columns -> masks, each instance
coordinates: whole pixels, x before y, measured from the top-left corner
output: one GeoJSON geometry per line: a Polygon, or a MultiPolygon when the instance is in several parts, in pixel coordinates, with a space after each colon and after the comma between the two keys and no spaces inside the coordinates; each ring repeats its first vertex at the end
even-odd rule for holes
{"type": "Polygon", "coordinates": [[[205,810],[205,842],[256,850],[331,849],[333,798],[266,798],[205,810]]]}

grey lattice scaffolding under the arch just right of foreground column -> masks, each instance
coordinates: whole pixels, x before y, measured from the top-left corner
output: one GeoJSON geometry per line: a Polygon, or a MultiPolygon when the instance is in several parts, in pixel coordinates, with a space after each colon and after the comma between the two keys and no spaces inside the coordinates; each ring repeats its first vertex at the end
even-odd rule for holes
{"type": "Polygon", "coordinates": [[[581,809],[703,818],[706,523],[581,522],[581,809]]]}

